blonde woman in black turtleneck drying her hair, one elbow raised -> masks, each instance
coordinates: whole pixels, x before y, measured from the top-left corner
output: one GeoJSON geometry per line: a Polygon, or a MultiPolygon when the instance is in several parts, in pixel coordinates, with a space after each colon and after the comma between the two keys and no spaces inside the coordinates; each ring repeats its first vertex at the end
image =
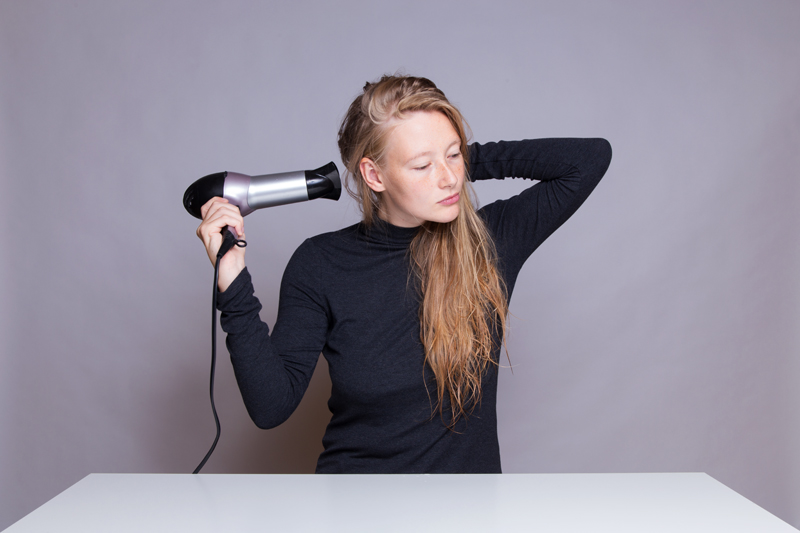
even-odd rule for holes
{"type": "MultiPolygon", "coordinates": [[[[320,473],[500,472],[497,368],[508,300],[528,256],[586,199],[610,162],[602,139],[467,144],[464,120],[425,78],[368,83],[339,130],[363,221],[308,239],[289,261],[278,318],[260,321],[234,248],[219,309],[254,422],[285,421],[319,353],[332,382],[320,473]],[[468,181],[540,180],[476,211],[468,181]]],[[[198,236],[244,234],[224,199],[198,236]]]]}

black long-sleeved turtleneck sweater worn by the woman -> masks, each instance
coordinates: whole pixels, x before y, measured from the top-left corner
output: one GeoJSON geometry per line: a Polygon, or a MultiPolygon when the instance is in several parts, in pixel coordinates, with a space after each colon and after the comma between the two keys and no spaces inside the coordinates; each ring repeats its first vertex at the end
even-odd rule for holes
{"type": "MultiPolygon", "coordinates": [[[[479,211],[509,298],[525,260],[583,203],[610,160],[603,139],[471,146],[473,181],[540,181],[479,211]]],[[[407,253],[417,230],[378,221],[306,240],[284,272],[271,335],[246,269],[219,294],[236,379],[259,427],[289,418],[320,352],[327,359],[333,416],[318,473],[500,472],[497,367],[483,376],[480,405],[454,429],[432,413],[436,385],[425,368],[407,253]]]]}

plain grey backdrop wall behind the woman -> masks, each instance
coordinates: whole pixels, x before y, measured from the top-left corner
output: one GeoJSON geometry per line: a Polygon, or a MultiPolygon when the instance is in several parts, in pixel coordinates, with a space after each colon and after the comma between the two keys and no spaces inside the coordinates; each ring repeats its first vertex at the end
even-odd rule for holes
{"type": "MultiPolygon", "coordinates": [[[[703,471],[800,526],[798,28],[792,0],[0,0],[0,528],[90,472],[195,467],[212,269],[184,189],[339,163],[348,103],[398,69],[477,141],[614,147],[517,284],[504,470],[703,471]]],[[[357,218],[247,218],[264,320],[295,247],[357,218]]],[[[220,347],[205,471],[311,472],[324,361],[260,431],[220,347]]]]}

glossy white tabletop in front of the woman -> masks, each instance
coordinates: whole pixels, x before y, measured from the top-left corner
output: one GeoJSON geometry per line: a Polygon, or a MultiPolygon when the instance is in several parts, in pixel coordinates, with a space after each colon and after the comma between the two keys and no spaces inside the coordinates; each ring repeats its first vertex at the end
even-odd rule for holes
{"type": "Polygon", "coordinates": [[[91,474],[7,533],[797,532],[706,474],[91,474]]]}

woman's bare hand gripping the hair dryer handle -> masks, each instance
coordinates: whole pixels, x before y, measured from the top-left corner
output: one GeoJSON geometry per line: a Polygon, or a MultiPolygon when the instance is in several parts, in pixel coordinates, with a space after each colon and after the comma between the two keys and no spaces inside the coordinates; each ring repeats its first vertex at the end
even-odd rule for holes
{"type": "MultiPolygon", "coordinates": [[[[244,219],[239,207],[225,198],[215,196],[200,208],[203,222],[197,228],[197,236],[206,247],[211,264],[217,262],[217,252],[222,245],[222,232],[231,226],[240,239],[244,239],[244,219]]],[[[225,292],[236,276],[244,270],[244,248],[234,246],[219,260],[219,292],[225,292]]]]}

